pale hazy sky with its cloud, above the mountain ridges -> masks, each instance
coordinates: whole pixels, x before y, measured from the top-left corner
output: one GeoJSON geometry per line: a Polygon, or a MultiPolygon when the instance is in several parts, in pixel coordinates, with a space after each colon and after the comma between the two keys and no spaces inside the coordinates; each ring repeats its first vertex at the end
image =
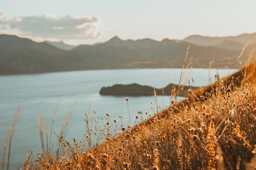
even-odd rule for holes
{"type": "Polygon", "coordinates": [[[66,44],[256,32],[255,0],[0,0],[0,34],[66,44]]]}

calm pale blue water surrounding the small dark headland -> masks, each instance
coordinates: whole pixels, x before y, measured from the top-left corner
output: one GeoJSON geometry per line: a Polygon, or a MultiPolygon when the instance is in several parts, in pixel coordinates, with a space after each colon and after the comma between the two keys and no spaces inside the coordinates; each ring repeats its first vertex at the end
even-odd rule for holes
{"type": "MultiPolygon", "coordinates": [[[[219,69],[220,77],[225,77],[237,70],[219,69]]],[[[214,80],[216,69],[193,68],[184,71],[182,82],[191,86],[206,86],[210,83],[209,78],[214,80]],[[193,82],[192,82],[193,78],[193,82]]],[[[96,71],[71,71],[60,73],[44,73],[35,75],[8,75],[0,76],[0,152],[3,150],[4,132],[8,126],[11,130],[13,118],[20,105],[20,117],[16,126],[11,147],[10,164],[16,169],[23,163],[29,154],[29,147],[36,157],[41,152],[40,135],[38,130],[37,116],[42,114],[47,119],[47,129],[50,131],[52,118],[58,104],[58,111],[54,121],[54,129],[57,133],[65,115],[74,107],[70,118],[71,127],[67,135],[67,141],[83,140],[85,129],[85,113],[90,113],[90,120],[95,116],[98,120],[103,119],[106,123],[106,113],[110,119],[119,119],[121,114],[125,117],[124,125],[128,123],[128,108],[125,97],[129,97],[128,106],[131,122],[135,120],[138,111],[146,111],[153,114],[156,107],[154,96],[101,96],[100,88],[114,84],[132,84],[154,86],[162,88],[170,83],[178,83],[181,69],[124,69],[124,70],[96,70],[96,71]],[[95,115],[93,110],[97,111],[95,115]]],[[[170,96],[157,97],[157,104],[165,108],[170,103],[170,96]]],[[[132,123],[131,123],[132,124],[132,123]]],[[[55,135],[53,135],[55,137],[55,135]]],[[[55,137],[56,138],[56,137],[55,137]]],[[[2,158],[2,155],[1,155],[2,158]]]]}

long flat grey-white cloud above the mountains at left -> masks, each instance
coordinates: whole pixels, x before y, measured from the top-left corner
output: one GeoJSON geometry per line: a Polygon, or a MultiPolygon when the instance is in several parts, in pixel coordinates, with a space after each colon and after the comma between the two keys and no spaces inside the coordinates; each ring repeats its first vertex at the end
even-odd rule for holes
{"type": "Polygon", "coordinates": [[[96,16],[66,15],[57,17],[54,14],[20,15],[7,18],[0,12],[0,32],[56,39],[96,39],[102,34],[98,30],[101,19],[96,16]]]}

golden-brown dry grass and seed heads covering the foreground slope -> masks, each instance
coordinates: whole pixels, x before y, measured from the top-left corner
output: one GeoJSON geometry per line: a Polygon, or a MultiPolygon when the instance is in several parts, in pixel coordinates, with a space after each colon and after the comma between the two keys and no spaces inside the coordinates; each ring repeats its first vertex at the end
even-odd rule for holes
{"type": "MultiPolygon", "coordinates": [[[[28,156],[24,169],[256,169],[255,77],[256,63],[248,64],[224,79],[217,73],[215,84],[195,92],[189,90],[182,102],[173,102],[152,117],[141,113],[141,117],[148,119],[141,121],[142,118],[137,116],[134,126],[130,121],[124,125],[121,115],[119,125],[107,113],[106,122],[102,119],[104,127],[99,127],[95,116],[92,129],[86,115],[83,142],[77,143],[74,139],[71,144],[54,132],[62,154],[55,157],[42,143],[41,155],[36,160],[28,156]]],[[[126,101],[128,105],[128,98],[126,101]]],[[[38,123],[43,139],[40,117],[38,123]]]]}

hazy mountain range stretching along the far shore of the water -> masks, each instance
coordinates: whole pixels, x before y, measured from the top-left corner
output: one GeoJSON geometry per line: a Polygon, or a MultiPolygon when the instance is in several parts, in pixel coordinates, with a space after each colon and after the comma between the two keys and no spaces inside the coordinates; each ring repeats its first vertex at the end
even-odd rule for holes
{"type": "Polygon", "coordinates": [[[63,42],[34,42],[15,35],[0,35],[0,75],[121,68],[238,68],[249,54],[255,56],[256,33],[234,37],[191,35],[184,40],[121,40],[70,46],[63,42]],[[242,57],[240,52],[247,42],[242,57]],[[190,45],[190,46],[189,46],[190,45]],[[184,59],[188,51],[188,59],[184,59]],[[252,53],[251,53],[252,52],[252,53]],[[234,63],[236,64],[234,65],[234,63]]]}

